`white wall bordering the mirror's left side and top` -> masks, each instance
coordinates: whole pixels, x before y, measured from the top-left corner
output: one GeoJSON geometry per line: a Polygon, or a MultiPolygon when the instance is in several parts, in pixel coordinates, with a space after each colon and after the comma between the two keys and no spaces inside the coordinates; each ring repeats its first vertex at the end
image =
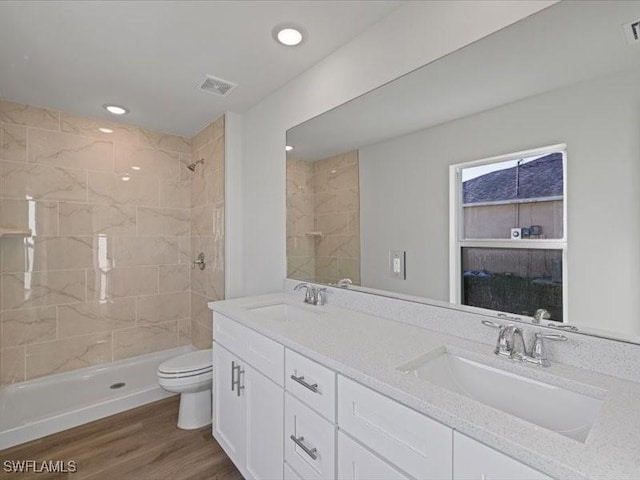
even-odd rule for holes
{"type": "Polygon", "coordinates": [[[243,217],[242,227],[226,232],[227,295],[282,288],[287,129],[553,3],[408,2],[249,110],[242,188],[226,195],[230,211],[241,205],[243,217]]]}

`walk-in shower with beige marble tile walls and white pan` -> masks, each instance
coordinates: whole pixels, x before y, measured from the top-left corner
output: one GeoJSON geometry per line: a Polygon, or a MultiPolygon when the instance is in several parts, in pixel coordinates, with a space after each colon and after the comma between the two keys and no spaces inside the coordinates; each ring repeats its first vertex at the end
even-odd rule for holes
{"type": "Polygon", "coordinates": [[[0,449],[162,398],[157,364],[211,347],[224,158],[224,117],[186,138],[0,101],[0,449]]]}

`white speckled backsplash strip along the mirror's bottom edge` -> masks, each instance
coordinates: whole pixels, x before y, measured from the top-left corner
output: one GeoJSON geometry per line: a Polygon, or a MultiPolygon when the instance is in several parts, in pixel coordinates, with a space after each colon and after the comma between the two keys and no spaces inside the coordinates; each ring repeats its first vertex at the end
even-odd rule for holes
{"type": "MultiPolygon", "coordinates": [[[[284,292],[300,296],[300,292],[293,291],[297,283],[297,280],[285,279],[284,292]]],[[[482,325],[481,321],[490,318],[494,322],[507,322],[495,316],[487,317],[446,308],[444,302],[440,302],[443,306],[438,306],[438,302],[428,305],[416,301],[417,297],[413,298],[414,300],[409,296],[405,299],[385,297],[337,287],[328,287],[327,291],[329,305],[484,343],[487,345],[487,352],[493,351],[498,336],[496,330],[482,325]]],[[[302,297],[300,301],[302,302],[302,297]]],[[[548,356],[552,363],[572,365],[640,382],[640,345],[580,333],[559,332],[553,328],[526,324],[519,326],[529,340],[533,338],[534,332],[541,330],[545,333],[561,333],[568,338],[567,342],[548,345],[548,356]]]]}

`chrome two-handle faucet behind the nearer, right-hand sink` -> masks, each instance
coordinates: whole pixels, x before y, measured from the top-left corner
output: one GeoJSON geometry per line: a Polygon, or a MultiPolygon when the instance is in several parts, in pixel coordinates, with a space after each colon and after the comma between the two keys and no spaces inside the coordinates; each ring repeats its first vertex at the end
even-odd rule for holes
{"type": "Polygon", "coordinates": [[[501,325],[489,320],[482,320],[482,324],[498,329],[498,343],[493,353],[502,357],[507,357],[511,360],[533,363],[535,365],[540,365],[541,367],[548,367],[551,365],[547,358],[545,340],[554,340],[558,342],[567,341],[567,337],[564,335],[536,332],[533,346],[529,352],[524,341],[523,331],[520,327],[516,327],[511,324],[501,325]]]}

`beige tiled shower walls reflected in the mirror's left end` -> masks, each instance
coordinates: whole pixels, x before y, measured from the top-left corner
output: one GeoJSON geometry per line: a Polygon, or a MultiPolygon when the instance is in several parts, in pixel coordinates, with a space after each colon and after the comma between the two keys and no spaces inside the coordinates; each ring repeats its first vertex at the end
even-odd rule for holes
{"type": "Polygon", "coordinates": [[[360,283],[357,150],[315,162],[287,160],[287,274],[360,283]]]}

